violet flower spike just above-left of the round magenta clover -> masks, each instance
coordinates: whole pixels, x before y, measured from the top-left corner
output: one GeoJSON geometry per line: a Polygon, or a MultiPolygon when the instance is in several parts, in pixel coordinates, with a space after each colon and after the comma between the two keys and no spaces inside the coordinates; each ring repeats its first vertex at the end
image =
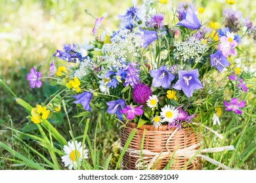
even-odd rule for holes
{"type": "Polygon", "coordinates": [[[126,72],[126,77],[125,77],[125,83],[123,84],[124,86],[130,85],[132,88],[135,87],[136,84],[139,83],[140,81],[140,69],[134,67],[135,63],[130,63],[127,65],[125,68],[126,72]]]}

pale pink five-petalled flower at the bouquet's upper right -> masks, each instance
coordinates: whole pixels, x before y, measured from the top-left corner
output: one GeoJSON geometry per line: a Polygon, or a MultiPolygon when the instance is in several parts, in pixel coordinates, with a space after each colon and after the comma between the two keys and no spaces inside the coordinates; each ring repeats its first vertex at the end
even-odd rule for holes
{"type": "Polygon", "coordinates": [[[228,41],[226,36],[221,37],[221,44],[218,44],[218,49],[223,52],[223,56],[228,58],[228,55],[236,56],[236,50],[234,48],[238,45],[236,41],[228,41]]]}

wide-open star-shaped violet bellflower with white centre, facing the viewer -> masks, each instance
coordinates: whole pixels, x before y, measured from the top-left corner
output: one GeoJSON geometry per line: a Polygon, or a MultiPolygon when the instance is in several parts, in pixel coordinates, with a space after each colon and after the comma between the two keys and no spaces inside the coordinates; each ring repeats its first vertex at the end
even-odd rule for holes
{"type": "Polygon", "coordinates": [[[198,69],[192,71],[179,71],[179,80],[173,85],[176,90],[182,90],[186,97],[191,97],[194,90],[203,88],[198,79],[198,69]]]}

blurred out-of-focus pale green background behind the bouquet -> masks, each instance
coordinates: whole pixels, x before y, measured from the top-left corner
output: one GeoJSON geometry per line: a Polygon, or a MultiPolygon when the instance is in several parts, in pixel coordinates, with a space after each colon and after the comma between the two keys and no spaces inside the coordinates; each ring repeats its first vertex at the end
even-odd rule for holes
{"type": "MultiPolygon", "coordinates": [[[[223,9],[234,8],[240,10],[244,18],[251,16],[255,25],[256,1],[236,1],[235,5],[228,5],[221,0],[195,2],[197,7],[205,7],[205,12],[199,15],[202,22],[209,19],[222,20],[223,9]]],[[[139,5],[141,3],[142,1],[138,1],[139,5]]],[[[178,3],[179,1],[169,1],[167,5],[163,5],[162,10],[175,8],[178,3]]],[[[104,27],[111,33],[118,27],[117,15],[124,14],[130,5],[131,1],[116,0],[0,0],[0,78],[7,82],[18,97],[31,105],[40,103],[51,93],[51,86],[43,81],[42,88],[32,90],[26,81],[26,74],[35,66],[42,75],[48,75],[49,63],[56,49],[62,49],[63,44],[81,44],[93,39],[95,18],[86,14],[85,9],[96,18],[104,16],[104,27]]],[[[253,46],[254,51],[248,55],[248,61],[255,59],[255,45],[253,46]]],[[[58,65],[62,62],[55,63],[58,65]]],[[[27,115],[16,104],[12,95],[0,85],[0,141],[9,142],[12,137],[11,131],[3,125],[22,129],[28,122],[27,115]]],[[[0,149],[0,155],[9,157],[4,153],[6,152],[0,149]]],[[[251,164],[247,165],[249,167],[245,165],[245,169],[256,167],[255,156],[253,157],[251,164]]],[[[0,159],[0,169],[9,169],[9,165],[3,162],[0,159]]]]}

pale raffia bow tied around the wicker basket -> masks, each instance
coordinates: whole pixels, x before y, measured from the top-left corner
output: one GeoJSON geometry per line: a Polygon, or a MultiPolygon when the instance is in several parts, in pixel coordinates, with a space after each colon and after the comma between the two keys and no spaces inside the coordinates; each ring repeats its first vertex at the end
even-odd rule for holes
{"type": "MultiPolygon", "coordinates": [[[[203,125],[203,127],[205,127],[203,125]]],[[[217,137],[223,139],[222,135],[219,135],[216,131],[213,131],[213,129],[210,129],[209,127],[205,127],[215,133],[217,137]]],[[[168,142],[171,140],[173,135],[177,132],[178,129],[175,129],[173,133],[171,133],[170,137],[167,139],[166,142],[166,152],[151,152],[150,150],[134,150],[131,148],[127,148],[126,152],[129,153],[129,156],[134,158],[139,158],[137,162],[135,163],[135,167],[137,168],[143,168],[146,165],[146,169],[151,169],[151,167],[156,163],[157,161],[164,159],[164,158],[173,158],[173,159],[180,159],[180,158],[193,158],[193,157],[201,157],[210,163],[213,163],[214,165],[217,165],[218,167],[221,167],[223,169],[230,170],[230,167],[227,167],[223,163],[220,163],[219,161],[216,161],[215,159],[211,159],[208,156],[203,155],[202,153],[213,153],[213,152],[223,152],[224,150],[234,150],[234,146],[223,146],[218,148],[207,148],[207,149],[197,149],[200,147],[200,143],[192,144],[191,146],[188,146],[186,148],[177,149],[175,152],[171,152],[167,148],[168,142]]],[[[123,147],[120,147],[121,150],[123,150],[123,147]]],[[[178,147],[179,148],[179,147],[178,147]]]]}

